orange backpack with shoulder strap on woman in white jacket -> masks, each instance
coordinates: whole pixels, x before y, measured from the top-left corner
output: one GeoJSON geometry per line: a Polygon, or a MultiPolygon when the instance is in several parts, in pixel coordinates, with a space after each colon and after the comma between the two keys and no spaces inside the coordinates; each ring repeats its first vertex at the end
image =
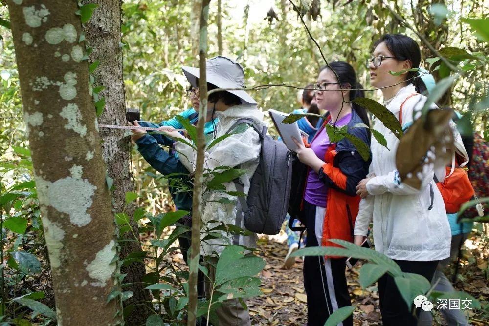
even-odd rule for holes
{"type": "MultiPolygon", "coordinates": [[[[400,105],[399,110],[399,123],[402,127],[402,107],[404,103],[412,96],[419,95],[414,93],[409,95],[404,102],[400,105]]],[[[452,166],[445,167],[446,177],[442,182],[437,181],[436,185],[442,193],[443,202],[445,203],[445,209],[448,214],[457,213],[460,207],[465,202],[468,202],[472,196],[474,196],[474,188],[468,179],[468,173],[463,167],[455,167],[455,156],[452,162],[452,166]]],[[[436,178],[436,177],[435,177],[436,178]]],[[[433,205],[433,203],[431,203],[433,205]]]]}

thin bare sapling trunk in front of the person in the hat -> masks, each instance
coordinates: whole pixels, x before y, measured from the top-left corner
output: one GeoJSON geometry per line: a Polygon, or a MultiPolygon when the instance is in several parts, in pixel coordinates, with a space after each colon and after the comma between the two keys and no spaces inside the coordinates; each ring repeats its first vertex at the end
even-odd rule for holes
{"type": "Polygon", "coordinates": [[[202,181],[204,172],[205,137],[204,125],[207,116],[207,20],[209,18],[210,0],[201,1],[200,39],[199,39],[199,120],[197,122],[197,162],[195,165],[194,193],[192,201],[192,236],[190,252],[190,274],[188,278],[189,302],[187,326],[194,326],[197,319],[197,275],[200,259],[200,220],[202,218],[202,181]]]}

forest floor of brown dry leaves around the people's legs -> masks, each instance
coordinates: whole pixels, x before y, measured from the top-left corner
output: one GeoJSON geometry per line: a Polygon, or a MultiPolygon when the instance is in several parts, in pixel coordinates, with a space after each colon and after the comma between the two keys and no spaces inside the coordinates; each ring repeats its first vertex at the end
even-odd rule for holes
{"type": "MultiPolygon", "coordinates": [[[[296,264],[289,270],[283,269],[284,257],[287,254],[286,236],[261,236],[258,241],[258,255],[266,261],[260,278],[262,279],[262,292],[260,297],[246,300],[251,315],[253,326],[302,326],[307,322],[307,296],[304,292],[302,259],[296,259],[296,264]]],[[[487,304],[489,298],[489,280],[485,273],[488,270],[487,259],[489,248],[477,242],[466,242],[463,251],[464,258],[459,271],[457,290],[463,290],[487,304]]],[[[181,254],[178,254],[181,257],[181,254]]],[[[183,260],[178,260],[178,265],[183,260]]],[[[176,259],[174,259],[174,262],[176,259]]],[[[347,282],[352,297],[352,305],[358,306],[354,311],[355,326],[382,325],[379,310],[378,290],[374,284],[365,290],[358,283],[358,270],[361,263],[354,266],[353,270],[347,269],[347,282]]],[[[436,305],[434,305],[436,307],[436,305]]],[[[471,325],[489,325],[489,311],[474,313],[468,311],[471,325]]],[[[434,314],[434,325],[445,325],[439,313],[434,314]]]]}

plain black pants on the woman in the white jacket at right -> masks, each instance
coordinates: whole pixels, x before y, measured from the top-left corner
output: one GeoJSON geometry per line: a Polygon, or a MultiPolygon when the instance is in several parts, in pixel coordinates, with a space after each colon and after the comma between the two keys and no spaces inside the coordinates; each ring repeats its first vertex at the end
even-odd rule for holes
{"type": "MultiPolygon", "coordinates": [[[[438,265],[438,261],[415,262],[406,260],[394,260],[403,272],[415,273],[424,276],[431,282],[438,265]]],[[[417,316],[420,309],[416,308],[416,315],[413,315],[414,306],[406,305],[402,298],[394,278],[384,274],[377,281],[378,295],[380,297],[380,313],[382,314],[382,323],[385,326],[416,326],[418,323],[417,316]]]]}

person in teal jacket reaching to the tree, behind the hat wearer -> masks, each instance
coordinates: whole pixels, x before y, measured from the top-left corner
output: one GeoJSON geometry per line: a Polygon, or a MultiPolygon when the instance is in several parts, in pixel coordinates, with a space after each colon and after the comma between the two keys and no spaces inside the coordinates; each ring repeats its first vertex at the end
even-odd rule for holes
{"type": "MultiPolygon", "coordinates": [[[[190,87],[187,90],[187,95],[190,98],[192,107],[179,113],[178,115],[190,120],[190,123],[197,124],[198,121],[198,113],[196,110],[199,110],[199,90],[190,87]]],[[[212,134],[215,129],[215,125],[217,123],[217,119],[212,118],[212,111],[209,111],[205,120],[205,128],[204,132],[206,134],[212,134]]],[[[177,118],[172,118],[169,120],[162,121],[158,124],[152,122],[134,122],[135,126],[142,127],[173,127],[175,129],[181,129],[183,126],[178,122],[177,118]]],[[[178,153],[173,150],[174,141],[165,135],[156,134],[156,133],[147,133],[144,129],[133,130],[132,135],[133,141],[137,145],[137,150],[144,159],[153,167],[156,171],[161,173],[162,175],[169,175],[174,173],[179,173],[180,178],[183,181],[183,185],[188,187],[187,191],[178,191],[180,190],[177,186],[169,186],[168,189],[170,191],[170,195],[172,196],[173,203],[178,210],[186,210],[192,211],[192,183],[190,183],[189,178],[187,177],[189,172],[183,166],[183,164],[178,159],[178,153]],[[168,146],[171,149],[169,151],[165,151],[160,147],[160,145],[168,146]]],[[[173,178],[178,178],[178,176],[174,176],[173,178]]],[[[190,216],[184,216],[180,221],[181,224],[191,227],[192,222],[190,216]]],[[[190,231],[185,232],[181,236],[178,237],[178,243],[180,244],[180,250],[183,255],[183,260],[185,263],[187,262],[187,252],[190,248],[190,231]]]]}

